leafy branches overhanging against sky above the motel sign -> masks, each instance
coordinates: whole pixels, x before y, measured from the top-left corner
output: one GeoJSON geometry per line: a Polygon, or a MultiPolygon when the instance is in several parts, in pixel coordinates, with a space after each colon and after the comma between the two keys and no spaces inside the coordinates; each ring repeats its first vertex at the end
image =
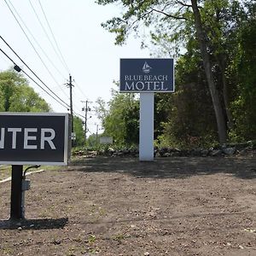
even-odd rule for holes
{"type": "Polygon", "coordinates": [[[135,32],[139,36],[141,27],[153,29],[156,35],[159,34],[159,31],[165,31],[165,28],[172,29],[173,32],[182,30],[182,20],[188,18],[189,10],[189,6],[186,5],[180,8],[180,1],[177,0],[171,0],[168,3],[159,0],[97,0],[96,3],[122,5],[124,10],[122,15],[102,23],[102,26],[109,32],[116,34],[115,44],[120,45],[125,43],[131,32],[135,32]]]}

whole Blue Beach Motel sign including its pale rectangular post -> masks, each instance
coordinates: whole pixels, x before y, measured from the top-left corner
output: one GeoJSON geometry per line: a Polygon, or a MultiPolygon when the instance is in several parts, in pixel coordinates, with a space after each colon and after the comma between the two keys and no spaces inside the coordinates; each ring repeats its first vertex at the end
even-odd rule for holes
{"type": "Polygon", "coordinates": [[[140,93],[139,159],[154,160],[154,92],[174,92],[173,59],[120,59],[120,92],[140,93]]]}

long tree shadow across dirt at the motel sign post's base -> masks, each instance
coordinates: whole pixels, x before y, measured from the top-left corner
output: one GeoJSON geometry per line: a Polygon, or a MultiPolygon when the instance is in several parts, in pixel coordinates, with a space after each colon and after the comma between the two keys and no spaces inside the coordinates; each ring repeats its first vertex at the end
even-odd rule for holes
{"type": "Polygon", "coordinates": [[[95,157],[75,160],[67,169],[80,172],[120,172],[136,177],[185,178],[194,175],[229,173],[244,179],[256,177],[255,158],[156,158],[140,162],[137,158],[95,157]]]}

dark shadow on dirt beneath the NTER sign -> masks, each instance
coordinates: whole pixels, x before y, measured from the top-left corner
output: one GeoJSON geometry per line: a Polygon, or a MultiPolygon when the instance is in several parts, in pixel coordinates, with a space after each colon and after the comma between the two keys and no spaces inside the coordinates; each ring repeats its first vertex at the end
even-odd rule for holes
{"type": "Polygon", "coordinates": [[[54,230],[62,229],[68,218],[39,218],[20,220],[0,220],[0,230],[54,230]]]}

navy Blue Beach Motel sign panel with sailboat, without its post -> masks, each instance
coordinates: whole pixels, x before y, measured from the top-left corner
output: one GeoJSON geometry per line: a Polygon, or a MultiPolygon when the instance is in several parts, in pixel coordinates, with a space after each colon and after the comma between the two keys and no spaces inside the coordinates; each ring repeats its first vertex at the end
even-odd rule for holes
{"type": "Polygon", "coordinates": [[[120,59],[120,92],[173,91],[173,59],[120,59]]]}

